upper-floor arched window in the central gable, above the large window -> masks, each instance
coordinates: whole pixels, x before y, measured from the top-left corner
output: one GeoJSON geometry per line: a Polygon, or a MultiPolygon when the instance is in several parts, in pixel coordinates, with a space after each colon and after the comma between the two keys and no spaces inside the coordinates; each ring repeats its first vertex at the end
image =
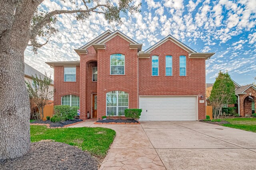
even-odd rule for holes
{"type": "Polygon", "coordinates": [[[124,55],[110,55],[110,74],[124,74],[124,55]]]}

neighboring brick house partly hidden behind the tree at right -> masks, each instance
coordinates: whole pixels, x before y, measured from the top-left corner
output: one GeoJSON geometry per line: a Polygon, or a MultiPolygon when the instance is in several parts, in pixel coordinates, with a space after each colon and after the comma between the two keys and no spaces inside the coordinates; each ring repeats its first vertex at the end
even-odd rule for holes
{"type": "MultiPolygon", "coordinates": [[[[234,82],[234,85],[236,87],[235,94],[238,100],[237,103],[229,104],[228,107],[236,107],[237,113],[242,117],[255,113],[256,86],[253,84],[240,86],[236,82],[234,82]]],[[[212,86],[212,83],[206,84],[206,98],[210,97],[212,86]]]]}

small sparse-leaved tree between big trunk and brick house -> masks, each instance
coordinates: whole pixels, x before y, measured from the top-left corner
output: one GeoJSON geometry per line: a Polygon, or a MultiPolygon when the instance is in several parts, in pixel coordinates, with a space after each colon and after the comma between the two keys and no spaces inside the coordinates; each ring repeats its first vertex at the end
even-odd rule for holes
{"type": "Polygon", "coordinates": [[[36,74],[32,76],[32,83],[26,81],[28,94],[38,107],[40,119],[44,118],[44,106],[51,103],[49,100],[51,100],[54,93],[54,90],[50,90],[51,82],[51,76],[47,77],[46,73],[44,77],[40,75],[38,77],[36,74]]]}

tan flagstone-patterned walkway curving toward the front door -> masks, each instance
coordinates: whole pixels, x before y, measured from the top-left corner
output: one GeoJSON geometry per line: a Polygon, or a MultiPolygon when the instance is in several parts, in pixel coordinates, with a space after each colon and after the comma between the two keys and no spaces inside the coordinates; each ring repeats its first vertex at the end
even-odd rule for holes
{"type": "Polygon", "coordinates": [[[86,121],[70,127],[106,127],[116,131],[100,170],[165,170],[141,125],[94,125],[86,121]]]}

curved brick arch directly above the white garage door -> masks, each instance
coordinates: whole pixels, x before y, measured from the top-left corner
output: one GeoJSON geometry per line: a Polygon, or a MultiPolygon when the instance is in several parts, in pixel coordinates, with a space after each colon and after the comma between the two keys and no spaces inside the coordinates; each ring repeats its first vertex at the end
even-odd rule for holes
{"type": "Polygon", "coordinates": [[[185,92],[191,95],[199,95],[199,92],[182,88],[152,88],[139,92],[139,95],[146,95],[150,92],[185,92]]]}

